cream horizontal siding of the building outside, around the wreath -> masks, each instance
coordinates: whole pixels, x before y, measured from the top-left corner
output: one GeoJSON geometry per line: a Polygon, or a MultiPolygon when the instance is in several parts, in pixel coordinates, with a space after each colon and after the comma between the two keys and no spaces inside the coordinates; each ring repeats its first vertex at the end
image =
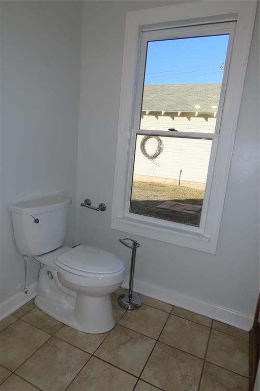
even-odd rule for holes
{"type": "MultiPolygon", "coordinates": [[[[141,121],[142,129],[164,130],[166,126],[174,127],[181,131],[204,131],[213,132],[215,128],[215,118],[175,117],[172,120],[169,116],[155,117],[153,115],[143,116],[141,121]],[[172,121],[172,122],[170,122],[172,121]],[[177,126],[177,123],[181,126],[177,126]],[[204,126],[202,128],[202,125],[204,126]],[[181,129],[180,129],[181,127],[181,129]]],[[[167,128],[166,128],[167,129],[167,128]]],[[[167,131],[168,133],[168,131],[167,131]]],[[[141,176],[157,177],[181,181],[206,183],[208,165],[211,151],[211,140],[160,137],[163,142],[162,153],[154,160],[148,159],[140,150],[140,142],[143,136],[137,136],[134,174],[140,180],[141,176]]],[[[146,143],[146,150],[153,154],[157,148],[156,139],[149,139],[146,143]]],[[[137,177],[136,177],[137,178],[137,177]]],[[[145,179],[145,177],[143,177],[145,179]]],[[[162,180],[163,182],[163,180],[162,180]]]]}

